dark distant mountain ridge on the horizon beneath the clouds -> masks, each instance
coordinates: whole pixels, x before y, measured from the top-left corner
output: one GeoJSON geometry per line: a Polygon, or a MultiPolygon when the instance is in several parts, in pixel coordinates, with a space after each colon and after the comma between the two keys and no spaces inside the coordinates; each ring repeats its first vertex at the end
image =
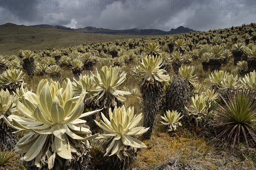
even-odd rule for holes
{"type": "Polygon", "coordinates": [[[51,26],[51,25],[35,25],[31,27],[38,28],[55,28],[55,29],[63,29],[75,32],[83,32],[83,33],[93,33],[93,34],[109,34],[109,35],[170,35],[170,34],[180,34],[187,32],[196,32],[193,29],[185,28],[183,26],[178,27],[177,29],[171,29],[170,31],[162,31],[160,29],[122,29],[122,30],[113,30],[113,29],[103,29],[96,28],[92,26],[87,26],[85,28],[79,29],[71,29],[65,26],[51,26]]]}

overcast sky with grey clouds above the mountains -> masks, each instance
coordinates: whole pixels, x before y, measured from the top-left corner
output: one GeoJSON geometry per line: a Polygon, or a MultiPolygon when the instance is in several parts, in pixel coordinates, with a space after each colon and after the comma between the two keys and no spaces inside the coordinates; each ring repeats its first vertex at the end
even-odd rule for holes
{"type": "Polygon", "coordinates": [[[256,23],[256,0],[0,0],[0,25],[198,31],[256,23]]]}

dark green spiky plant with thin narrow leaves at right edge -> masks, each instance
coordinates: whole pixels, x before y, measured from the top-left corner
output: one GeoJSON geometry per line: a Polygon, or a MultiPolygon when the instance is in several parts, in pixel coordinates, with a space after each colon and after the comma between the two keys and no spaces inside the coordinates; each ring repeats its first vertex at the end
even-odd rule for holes
{"type": "Polygon", "coordinates": [[[251,90],[236,89],[221,95],[223,106],[216,113],[214,127],[218,137],[223,137],[233,145],[245,141],[251,147],[256,144],[256,93],[251,90]]]}

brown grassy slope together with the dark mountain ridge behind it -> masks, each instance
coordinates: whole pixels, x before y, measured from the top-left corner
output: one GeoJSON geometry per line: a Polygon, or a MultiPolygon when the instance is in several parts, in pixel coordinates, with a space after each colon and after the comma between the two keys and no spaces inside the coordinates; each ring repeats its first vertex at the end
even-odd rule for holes
{"type": "Polygon", "coordinates": [[[111,30],[90,26],[71,29],[65,26],[25,26],[6,23],[0,25],[0,55],[13,54],[20,49],[62,48],[95,41],[123,40],[145,35],[169,35],[190,31],[194,30],[183,26],[164,32],[159,29],[111,30]]]}

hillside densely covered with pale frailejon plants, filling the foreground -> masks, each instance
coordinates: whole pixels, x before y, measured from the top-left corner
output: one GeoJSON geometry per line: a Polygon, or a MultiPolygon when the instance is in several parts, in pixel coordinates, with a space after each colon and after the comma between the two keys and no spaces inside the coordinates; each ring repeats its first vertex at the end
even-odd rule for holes
{"type": "Polygon", "coordinates": [[[255,30],[0,55],[0,170],[256,170],[255,30]]]}

